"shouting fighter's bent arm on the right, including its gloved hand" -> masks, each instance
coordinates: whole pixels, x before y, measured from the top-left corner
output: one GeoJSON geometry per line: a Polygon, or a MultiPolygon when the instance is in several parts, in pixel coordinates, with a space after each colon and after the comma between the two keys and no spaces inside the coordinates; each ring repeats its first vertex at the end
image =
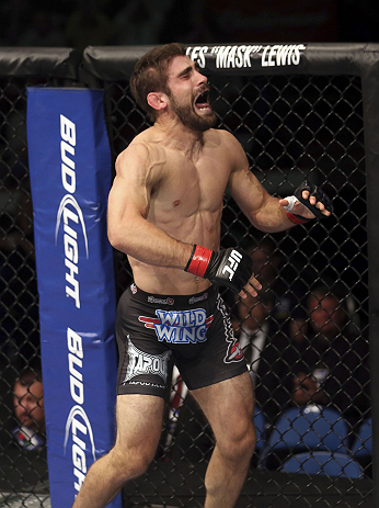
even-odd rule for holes
{"type": "Polygon", "coordinates": [[[313,218],[329,217],[333,205],[322,189],[305,182],[292,196],[277,199],[268,194],[249,168],[239,142],[229,137],[233,154],[233,170],[228,187],[233,199],[250,222],[266,233],[287,229],[313,218]]]}

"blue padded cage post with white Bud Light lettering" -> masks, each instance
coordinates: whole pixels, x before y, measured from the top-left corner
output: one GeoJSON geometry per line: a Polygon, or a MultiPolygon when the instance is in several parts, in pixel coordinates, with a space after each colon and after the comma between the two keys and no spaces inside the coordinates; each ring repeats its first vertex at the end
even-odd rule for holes
{"type": "MultiPolygon", "coordinates": [[[[27,145],[53,508],[115,437],[115,282],[103,92],[27,90],[27,145]]],[[[120,507],[120,496],[111,505],[120,507]]]]}

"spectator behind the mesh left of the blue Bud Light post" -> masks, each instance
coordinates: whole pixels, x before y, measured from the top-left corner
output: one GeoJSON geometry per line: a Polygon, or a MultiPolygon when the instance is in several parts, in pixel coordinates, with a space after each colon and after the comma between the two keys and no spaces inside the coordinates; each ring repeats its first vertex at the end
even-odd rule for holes
{"type": "Polygon", "coordinates": [[[25,450],[45,444],[44,390],[39,370],[27,368],[13,386],[14,416],[19,425],[12,430],[15,442],[25,450]]]}

